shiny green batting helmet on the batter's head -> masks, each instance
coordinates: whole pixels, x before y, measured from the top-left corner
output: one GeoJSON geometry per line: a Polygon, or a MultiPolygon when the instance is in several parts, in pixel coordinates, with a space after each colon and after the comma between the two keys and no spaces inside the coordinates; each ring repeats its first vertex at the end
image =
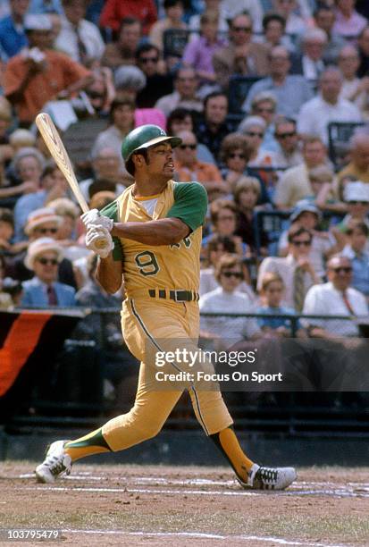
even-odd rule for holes
{"type": "Polygon", "coordinates": [[[178,147],[182,142],[179,137],[168,137],[164,130],[158,125],[140,125],[130,131],[122,143],[122,156],[128,162],[133,152],[141,148],[153,147],[161,142],[169,142],[172,147],[178,147]]]}

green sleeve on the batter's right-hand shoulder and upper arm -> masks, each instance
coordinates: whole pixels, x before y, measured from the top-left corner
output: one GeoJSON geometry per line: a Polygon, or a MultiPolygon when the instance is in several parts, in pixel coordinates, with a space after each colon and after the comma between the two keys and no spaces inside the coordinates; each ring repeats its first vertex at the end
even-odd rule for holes
{"type": "Polygon", "coordinates": [[[179,218],[191,231],[205,223],[207,193],[198,182],[177,182],[174,187],[174,204],[166,214],[167,218],[179,218]]]}

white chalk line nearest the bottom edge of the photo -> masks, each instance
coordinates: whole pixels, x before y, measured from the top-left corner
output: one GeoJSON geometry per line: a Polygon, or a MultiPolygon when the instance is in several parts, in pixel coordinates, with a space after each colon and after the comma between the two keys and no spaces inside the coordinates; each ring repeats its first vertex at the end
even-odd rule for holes
{"type": "Polygon", "coordinates": [[[215,540],[245,540],[256,542],[268,542],[279,543],[281,545],[298,545],[300,547],[348,547],[343,543],[309,543],[301,541],[292,541],[282,539],[280,537],[273,536],[259,536],[259,535],[221,535],[221,534],[205,534],[203,532],[125,532],[123,530],[75,530],[66,528],[62,530],[63,534],[102,534],[102,535],[138,535],[147,537],[193,537],[198,539],[215,539],[215,540]]]}

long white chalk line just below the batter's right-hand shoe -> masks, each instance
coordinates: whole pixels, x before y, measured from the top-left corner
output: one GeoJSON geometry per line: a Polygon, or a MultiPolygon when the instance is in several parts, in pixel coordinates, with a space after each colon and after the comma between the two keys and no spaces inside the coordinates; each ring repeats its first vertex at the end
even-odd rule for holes
{"type": "Polygon", "coordinates": [[[164,495],[199,495],[199,496],[260,496],[260,495],[278,495],[278,496],[316,496],[324,495],[339,498],[369,498],[369,493],[366,492],[347,492],[340,490],[287,490],[273,491],[263,490],[258,492],[248,491],[208,491],[208,490],[159,490],[155,488],[80,488],[78,486],[24,486],[20,490],[49,490],[51,492],[128,492],[128,493],[145,493],[145,494],[164,494],[164,495]]]}

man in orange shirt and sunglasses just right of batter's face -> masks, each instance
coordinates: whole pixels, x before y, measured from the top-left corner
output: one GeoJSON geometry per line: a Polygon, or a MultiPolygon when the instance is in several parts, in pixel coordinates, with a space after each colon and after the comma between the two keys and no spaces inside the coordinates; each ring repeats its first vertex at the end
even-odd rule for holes
{"type": "Polygon", "coordinates": [[[222,181],[219,169],[213,164],[206,164],[197,159],[197,138],[192,131],[180,131],[177,135],[182,139],[175,148],[174,169],[175,180],[182,182],[201,182],[205,189],[222,188],[228,191],[228,186],[222,181]]]}

